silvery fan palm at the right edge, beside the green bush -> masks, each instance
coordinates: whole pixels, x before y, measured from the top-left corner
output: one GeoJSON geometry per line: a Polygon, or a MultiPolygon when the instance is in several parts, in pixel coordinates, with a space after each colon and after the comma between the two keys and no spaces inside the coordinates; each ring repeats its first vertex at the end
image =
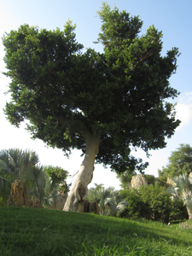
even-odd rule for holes
{"type": "Polygon", "coordinates": [[[187,173],[183,173],[178,177],[172,177],[174,184],[166,189],[167,193],[172,194],[172,199],[180,198],[186,205],[189,219],[192,219],[192,177],[187,173]]]}

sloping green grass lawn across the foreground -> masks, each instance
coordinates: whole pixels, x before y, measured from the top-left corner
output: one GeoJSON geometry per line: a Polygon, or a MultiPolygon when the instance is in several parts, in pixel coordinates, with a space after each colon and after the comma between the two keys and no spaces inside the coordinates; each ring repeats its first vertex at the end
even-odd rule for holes
{"type": "Polygon", "coordinates": [[[89,213],[0,207],[0,255],[192,255],[192,230],[89,213]]]}

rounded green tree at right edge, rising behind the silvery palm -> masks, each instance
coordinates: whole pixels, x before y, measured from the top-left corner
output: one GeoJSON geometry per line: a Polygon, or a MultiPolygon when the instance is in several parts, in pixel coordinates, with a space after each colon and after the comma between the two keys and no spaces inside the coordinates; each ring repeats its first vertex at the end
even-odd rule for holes
{"type": "Polygon", "coordinates": [[[189,144],[180,144],[180,147],[169,157],[168,165],[163,167],[162,175],[178,177],[183,173],[189,175],[190,172],[192,172],[192,148],[189,144]]]}

